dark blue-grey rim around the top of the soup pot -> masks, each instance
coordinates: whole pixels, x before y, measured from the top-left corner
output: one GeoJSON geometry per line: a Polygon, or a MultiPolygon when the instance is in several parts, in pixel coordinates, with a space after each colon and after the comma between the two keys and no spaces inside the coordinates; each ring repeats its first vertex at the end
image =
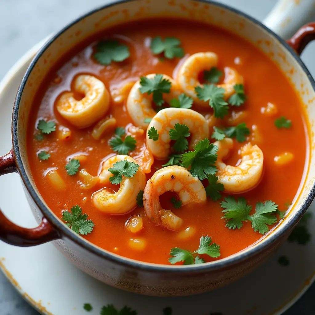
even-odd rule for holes
{"type": "MultiPolygon", "coordinates": [[[[20,107],[20,100],[23,94],[23,90],[26,86],[26,81],[32,72],[33,68],[35,67],[38,59],[42,56],[42,54],[45,52],[45,50],[66,30],[68,30],[70,27],[75,25],[77,22],[83,20],[84,18],[88,17],[89,15],[92,15],[100,10],[111,8],[117,4],[122,4],[126,2],[133,2],[137,0],[112,0],[110,3],[99,6],[93,10],[90,10],[88,13],[82,14],[77,19],[73,20],[72,22],[68,23],[66,26],[64,26],[60,31],[56,32],[50,39],[43,45],[43,47],[37,52],[33,60],[31,61],[30,65],[28,66],[22,81],[20,83],[19,89],[17,91],[17,95],[14,101],[14,108],[13,108],[13,114],[12,114],[12,142],[13,142],[13,153],[14,153],[14,160],[16,163],[16,167],[18,169],[18,172],[21,176],[21,179],[28,191],[28,193],[31,195],[31,198],[36,203],[37,207],[42,212],[43,216],[49,221],[50,224],[61,234],[61,239],[64,237],[69,238],[71,241],[79,245],[80,247],[83,247],[84,249],[88,250],[89,252],[97,255],[100,258],[112,261],[114,263],[122,264],[131,268],[135,269],[142,269],[143,271],[154,271],[154,272],[174,272],[174,273],[198,273],[198,272],[209,272],[214,271],[217,269],[225,268],[233,264],[240,263],[244,260],[246,260],[249,257],[252,257],[259,252],[261,252],[263,249],[268,248],[272,243],[276,242],[281,236],[284,235],[284,233],[289,230],[294,224],[299,221],[301,216],[305,213],[307,208],[310,206],[312,200],[315,197],[315,182],[312,185],[312,189],[310,189],[307,198],[303,201],[301,208],[299,211],[296,211],[293,216],[290,219],[286,219],[281,226],[279,226],[274,232],[272,232],[270,235],[266,236],[266,239],[262,242],[259,242],[255,244],[252,247],[249,247],[245,250],[242,250],[238,253],[235,253],[231,256],[228,256],[226,258],[222,258],[217,261],[212,261],[204,264],[198,264],[198,265],[184,265],[184,266],[171,266],[171,265],[162,265],[162,264],[154,264],[154,263],[148,263],[143,261],[137,261],[134,259],[129,259],[127,257],[123,257],[117,254],[114,254],[110,251],[107,251],[106,249],[101,249],[100,247],[94,245],[93,243],[90,243],[89,241],[85,240],[83,237],[79,236],[77,233],[73,232],[71,229],[69,229],[65,224],[62,223],[62,221],[48,208],[46,205],[41,201],[41,199],[38,197],[37,193],[35,192],[34,188],[31,185],[31,182],[26,175],[26,171],[24,169],[21,155],[20,155],[20,148],[18,144],[18,113],[19,113],[19,107],[20,107]]],[[[239,11],[238,9],[231,8],[230,6],[223,4],[223,3],[217,3],[213,0],[192,0],[195,2],[201,2],[201,3],[208,3],[214,6],[217,6],[219,8],[229,10],[233,13],[236,13],[240,15],[241,17],[250,20],[253,22],[256,26],[260,26],[263,30],[267,31],[270,35],[274,36],[282,46],[284,46],[288,52],[294,57],[296,62],[301,66],[303,71],[306,73],[308,80],[310,81],[313,90],[315,90],[315,82],[312,78],[311,74],[309,73],[308,69],[304,65],[301,58],[295,53],[295,51],[289,46],[288,43],[285,42],[284,39],[279,37],[277,34],[275,34],[272,30],[267,28],[265,25],[263,25],[260,21],[256,20],[255,18],[243,13],[242,11],[239,11]]],[[[291,210],[292,211],[292,210],[291,210]]]]}

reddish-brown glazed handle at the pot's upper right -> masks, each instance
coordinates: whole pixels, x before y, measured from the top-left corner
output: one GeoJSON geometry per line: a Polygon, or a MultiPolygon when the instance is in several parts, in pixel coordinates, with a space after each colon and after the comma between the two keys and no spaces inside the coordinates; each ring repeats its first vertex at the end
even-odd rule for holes
{"type": "Polygon", "coordinates": [[[312,40],[315,40],[315,22],[302,26],[287,43],[300,55],[312,40]]]}

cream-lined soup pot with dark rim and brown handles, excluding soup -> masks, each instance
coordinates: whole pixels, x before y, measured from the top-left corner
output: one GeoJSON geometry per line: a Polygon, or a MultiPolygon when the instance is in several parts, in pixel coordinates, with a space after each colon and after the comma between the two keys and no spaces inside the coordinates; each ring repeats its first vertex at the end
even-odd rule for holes
{"type": "MultiPolygon", "coordinates": [[[[313,0],[281,1],[266,24],[289,36],[314,11],[313,0]],[[294,14],[294,15],[293,15],[294,14]],[[294,19],[290,20],[290,17],[294,19]],[[285,25],[286,24],[286,25],[285,25]]],[[[191,266],[144,263],[100,249],[69,229],[46,205],[33,181],[26,156],[26,126],[34,95],[43,78],[60,56],[87,37],[127,20],[153,16],[185,17],[211,23],[238,34],[258,46],[278,64],[305,104],[306,120],[314,124],[315,82],[299,55],[315,39],[315,23],[303,26],[287,42],[255,19],[212,1],[134,0],[112,1],[95,9],[55,34],[28,67],[14,103],[12,150],[0,157],[0,175],[17,172],[22,179],[31,209],[39,226],[26,229],[10,222],[0,211],[0,239],[16,246],[52,241],[72,263],[89,275],[120,289],[146,295],[189,295],[226,285],[257,267],[286,239],[315,195],[315,147],[307,157],[304,183],[290,213],[253,246],[227,258],[191,266]]],[[[309,132],[311,143],[314,134],[309,132]]]]}

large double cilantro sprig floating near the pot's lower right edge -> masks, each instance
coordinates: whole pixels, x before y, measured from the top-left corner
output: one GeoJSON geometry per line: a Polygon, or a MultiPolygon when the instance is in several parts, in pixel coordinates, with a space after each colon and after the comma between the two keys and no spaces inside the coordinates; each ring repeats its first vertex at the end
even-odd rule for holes
{"type": "Polygon", "coordinates": [[[222,201],[221,207],[224,208],[222,212],[225,219],[226,226],[229,229],[240,229],[243,226],[243,222],[251,221],[254,232],[259,231],[261,234],[269,232],[268,225],[272,225],[277,222],[275,216],[278,209],[278,205],[271,200],[265,201],[265,203],[256,203],[256,212],[253,215],[249,215],[252,206],[247,204],[247,201],[243,197],[239,197],[236,201],[233,197],[228,196],[222,201]]]}

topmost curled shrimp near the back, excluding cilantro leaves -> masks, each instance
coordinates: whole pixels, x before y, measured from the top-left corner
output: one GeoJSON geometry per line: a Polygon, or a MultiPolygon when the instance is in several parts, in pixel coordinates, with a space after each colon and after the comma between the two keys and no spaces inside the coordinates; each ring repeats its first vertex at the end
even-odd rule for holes
{"type": "MultiPolygon", "coordinates": [[[[213,52],[196,53],[189,56],[180,67],[178,72],[177,81],[182,88],[183,92],[190,96],[194,102],[200,106],[208,107],[209,103],[199,100],[195,88],[202,86],[198,80],[199,73],[204,70],[210,70],[218,64],[218,56],[213,52]]],[[[233,86],[235,84],[243,84],[243,77],[238,74],[235,69],[230,67],[224,68],[224,81],[223,84],[218,84],[217,87],[225,89],[224,97],[229,98],[234,93],[233,86]]]]}

